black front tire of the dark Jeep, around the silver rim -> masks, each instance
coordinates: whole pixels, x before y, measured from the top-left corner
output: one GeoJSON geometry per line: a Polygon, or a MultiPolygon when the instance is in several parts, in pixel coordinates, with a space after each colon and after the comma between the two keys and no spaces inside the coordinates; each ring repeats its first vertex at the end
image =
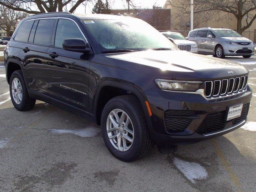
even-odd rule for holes
{"type": "Polygon", "coordinates": [[[146,156],[154,146],[139,100],[135,96],[124,95],[112,98],[104,106],[101,116],[101,130],[104,142],[110,153],[124,162],[131,162],[146,156]],[[111,144],[106,130],[107,118],[114,109],[126,112],[134,126],[134,140],[127,151],[119,151],[111,144]]]}

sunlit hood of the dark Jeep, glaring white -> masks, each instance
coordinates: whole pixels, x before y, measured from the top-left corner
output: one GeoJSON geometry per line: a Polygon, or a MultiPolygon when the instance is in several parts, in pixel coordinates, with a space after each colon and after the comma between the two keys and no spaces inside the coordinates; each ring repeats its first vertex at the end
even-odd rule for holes
{"type": "MultiPolygon", "coordinates": [[[[107,55],[116,60],[126,60],[145,67],[158,68],[159,74],[153,74],[154,76],[163,75],[166,78],[176,78],[176,80],[220,79],[248,73],[246,68],[235,62],[179,50],[148,50],[107,55]],[[232,71],[233,74],[228,74],[228,71],[232,71]]],[[[141,67],[137,69],[143,71],[141,67]]],[[[130,67],[127,70],[137,69],[130,67]]]]}

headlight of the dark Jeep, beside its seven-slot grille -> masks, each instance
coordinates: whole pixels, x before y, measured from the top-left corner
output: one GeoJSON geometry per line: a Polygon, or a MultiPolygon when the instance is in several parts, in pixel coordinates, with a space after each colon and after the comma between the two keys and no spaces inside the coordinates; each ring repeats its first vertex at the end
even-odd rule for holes
{"type": "Polygon", "coordinates": [[[166,79],[155,79],[157,86],[162,90],[170,91],[196,91],[202,81],[176,81],[166,79]]]}

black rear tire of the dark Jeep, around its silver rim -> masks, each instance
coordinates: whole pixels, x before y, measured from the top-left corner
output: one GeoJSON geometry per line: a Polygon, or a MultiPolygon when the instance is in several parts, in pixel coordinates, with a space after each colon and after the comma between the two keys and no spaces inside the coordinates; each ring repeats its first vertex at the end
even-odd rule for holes
{"type": "Polygon", "coordinates": [[[10,96],[11,96],[12,104],[14,105],[14,107],[17,110],[28,111],[35,106],[36,100],[29,97],[28,90],[26,88],[26,84],[24,82],[24,78],[23,78],[21,70],[16,70],[12,73],[12,76],[10,78],[9,88],[10,88],[10,96]],[[17,104],[14,101],[14,98],[12,96],[12,82],[13,82],[14,78],[18,78],[18,80],[20,81],[21,87],[22,87],[22,100],[21,100],[20,104],[17,104]]]}

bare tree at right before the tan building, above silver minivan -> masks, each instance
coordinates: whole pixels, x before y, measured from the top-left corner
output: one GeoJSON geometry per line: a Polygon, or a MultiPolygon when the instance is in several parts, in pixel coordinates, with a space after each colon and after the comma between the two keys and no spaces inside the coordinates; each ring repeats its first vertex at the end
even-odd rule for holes
{"type": "MultiPolygon", "coordinates": [[[[190,14],[190,0],[178,3],[168,0],[170,6],[178,8],[182,14],[190,14]]],[[[256,0],[194,0],[194,14],[219,18],[220,12],[234,16],[237,20],[236,30],[240,34],[248,29],[256,19],[256,0]]]]}

